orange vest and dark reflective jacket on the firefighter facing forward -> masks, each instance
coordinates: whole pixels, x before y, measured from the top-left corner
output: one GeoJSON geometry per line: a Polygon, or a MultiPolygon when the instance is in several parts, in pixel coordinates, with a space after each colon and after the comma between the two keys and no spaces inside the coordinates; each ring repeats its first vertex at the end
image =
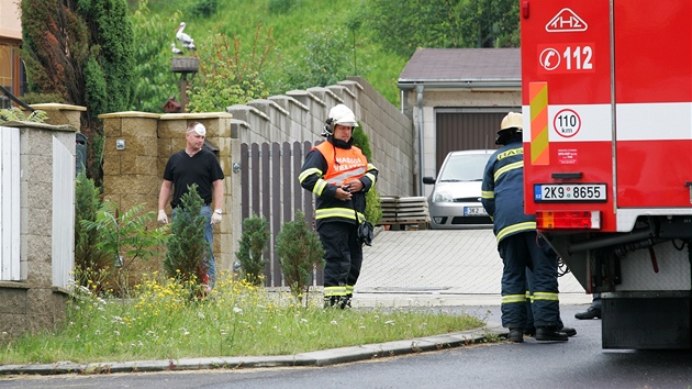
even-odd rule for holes
{"type": "Polygon", "coordinates": [[[362,220],[365,192],[372,188],[377,176],[378,170],[360,148],[353,146],[353,138],[346,143],[330,136],[327,142],[308,153],[298,180],[301,187],[316,196],[315,221],[320,227],[322,223],[335,221],[356,224],[354,204],[358,220],[362,220]],[[362,182],[362,190],[353,193],[350,201],[338,200],[336,188],[356,179],[362,182]]]}

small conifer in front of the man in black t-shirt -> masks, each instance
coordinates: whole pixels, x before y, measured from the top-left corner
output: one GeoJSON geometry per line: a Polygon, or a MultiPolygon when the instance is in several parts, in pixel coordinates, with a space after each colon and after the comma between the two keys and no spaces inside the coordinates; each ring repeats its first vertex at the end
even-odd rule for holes
{"type": "Polygon", "coordinates": [[[180,198],[185,211],[176,210],[164,259],[166,275],[183,285],[200,285],[207,275],[205,258],[212,249],[204,241],[207,219],[200,215],[203,201],[197,188],[197,184],[191,185],[180,198]]]}

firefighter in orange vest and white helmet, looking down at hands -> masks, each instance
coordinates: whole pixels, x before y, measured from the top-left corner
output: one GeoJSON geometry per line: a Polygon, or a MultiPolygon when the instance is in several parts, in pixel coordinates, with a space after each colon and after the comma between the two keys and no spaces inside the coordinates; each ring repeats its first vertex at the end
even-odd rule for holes
{"type": "Polygon", "coordinates": [[[348,107],[332,108],[322,133],[326,142],[308,153],[298,177],[316,197],[315,222],[325,251],[324,305],[342,309],[350,307],[360,275],[362,243],[357,226],[365,219],[365,194],[378,177],[375,166],[353,145],[357,125],[348,107]]]}

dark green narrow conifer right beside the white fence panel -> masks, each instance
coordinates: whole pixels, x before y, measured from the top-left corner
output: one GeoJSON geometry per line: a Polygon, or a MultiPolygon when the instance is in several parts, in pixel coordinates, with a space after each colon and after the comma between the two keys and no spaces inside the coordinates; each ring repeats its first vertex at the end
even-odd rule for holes
{"type": "Polygon", "coordinates": [[[78,285],[100,292],[109,289],[109,275],[113,270],[113,256],[97,248],[99,231],[89,229],[96,223],[101,209],[100,190],[82,170],[75,184],[75,280],[78,285]]]}

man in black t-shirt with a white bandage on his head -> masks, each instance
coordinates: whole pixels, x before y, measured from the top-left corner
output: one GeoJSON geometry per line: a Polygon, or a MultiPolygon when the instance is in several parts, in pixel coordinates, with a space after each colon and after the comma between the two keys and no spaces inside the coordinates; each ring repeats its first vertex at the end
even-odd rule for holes
{"type": "MultiPolygon", "coordinates": [[[[185,149],[170,156],[164,170],[164,182],[158,196],[158,222],[168,223],[166,215],[166,203],[170,198],[172,188],[172,200],[170,202],[176,212],[181,210],[180,198],[188,191],[188,186],[197,184],[198,192],[204,202],[200,214],[205,216],[209,223],[204,229],[204,240],[213,247],[214,226],[221,223],[223,213],[223,171],[214,153],[203,149],[207,129],[198,122],[188,125],[185,134],[187,141],[185,149]],[[212,200],[214,212],[212,213],[212,200]]],[[[213,251],[208,258],[209,287],[213,288],[216,281],[216,264],[213,251]]]]}

